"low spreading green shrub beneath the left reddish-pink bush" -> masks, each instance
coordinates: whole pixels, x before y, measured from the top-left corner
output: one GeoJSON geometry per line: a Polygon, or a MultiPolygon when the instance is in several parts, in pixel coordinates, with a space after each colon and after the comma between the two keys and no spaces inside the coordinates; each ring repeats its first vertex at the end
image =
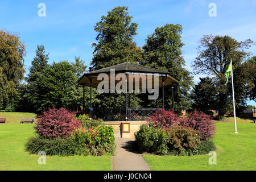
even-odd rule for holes
{"type": "Polygon", "coordinates": [[[70,138],[55,139],[43,137],[31,137],[26,143],[26,151],[30,154],[38,154],[39,151],[46,152],[46,155],[89,155],[89,150],[73,142],[70,138]]]}

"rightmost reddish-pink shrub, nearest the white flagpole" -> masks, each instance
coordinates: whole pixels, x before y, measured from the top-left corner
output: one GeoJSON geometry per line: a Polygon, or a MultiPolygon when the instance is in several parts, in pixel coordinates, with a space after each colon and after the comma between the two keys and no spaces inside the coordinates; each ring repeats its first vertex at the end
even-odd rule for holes
{"type": "Polygon", "coordinates": [[[193,130],[200,131],[199,137],[201,140],[209,140],[214,135],[214,123],[209,115],[194,110],[188,114],[181,122],[184,127],[190,127],[193,130]]]}

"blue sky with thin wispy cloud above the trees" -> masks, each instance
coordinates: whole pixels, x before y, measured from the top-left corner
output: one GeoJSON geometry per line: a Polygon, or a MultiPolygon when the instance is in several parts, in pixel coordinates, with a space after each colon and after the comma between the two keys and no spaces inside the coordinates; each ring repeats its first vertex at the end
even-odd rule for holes
{"type": "MultiPolygon", "coordinates": [[[[197,56],[199,39],[203,35],[229,35],[238,41],[248,38],[256,42],[256,0],[246,1],[14,1],[1,0],[0,28],[17,32],[26,45],[26,71],[31,66],[37,45],[43,44],[49,52],[49,63],[73,61],[81,56],[89,65],[96,42],[95,24],[102,15],[116,6],[128,6],[133,22],[138,23],[138,35],[134,40],[143,46],[147,35],[166,23],[183,27],[182,48],[186,68],[193,71],[191,63],[197,56]],[[46,16],[38,16],[38,4],[46,4],[46,16]],[[217,16],[210,17],[209,3],[217,6],[217,16]]],[[[256,46],[249,49],[256,55],[256,46]]],[[[195,82],[200,76],[195,76],[195,82]]],[[[249,102],[256,105],[256,102],[249,102]]]]}

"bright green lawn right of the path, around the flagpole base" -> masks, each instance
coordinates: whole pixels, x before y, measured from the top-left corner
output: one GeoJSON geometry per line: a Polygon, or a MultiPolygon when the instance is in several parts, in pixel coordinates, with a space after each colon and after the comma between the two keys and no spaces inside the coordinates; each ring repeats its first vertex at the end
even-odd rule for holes
{"type": "Polygon", "coordinates": [[[143,154],[152,170],[256,170],[256,124],[217,122],[213,138],[217,146],[217,164],[210,165],[208,155],[156,156],[143,154]]]}

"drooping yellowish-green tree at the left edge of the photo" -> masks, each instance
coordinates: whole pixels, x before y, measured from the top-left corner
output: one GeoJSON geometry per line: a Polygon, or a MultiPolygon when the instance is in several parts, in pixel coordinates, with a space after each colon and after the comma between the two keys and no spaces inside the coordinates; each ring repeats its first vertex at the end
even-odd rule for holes
{"type": "Polygon", "coordinates": [[[24,76],[25,46],[19,36],[0,30],[0,109],[13,102],[24,76]]]}

